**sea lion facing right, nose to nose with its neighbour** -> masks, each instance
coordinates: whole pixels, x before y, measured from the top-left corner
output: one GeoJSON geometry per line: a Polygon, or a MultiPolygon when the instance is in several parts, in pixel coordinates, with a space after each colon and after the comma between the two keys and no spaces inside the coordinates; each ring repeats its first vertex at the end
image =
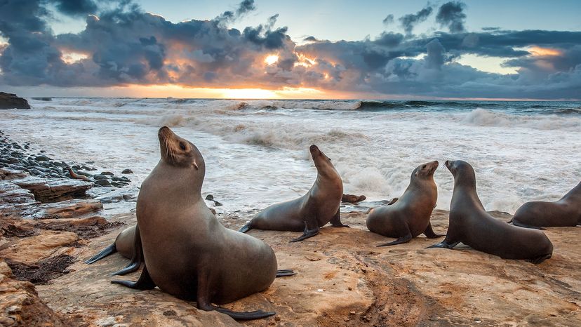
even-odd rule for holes
{"type": "Polygon", "coordinates": [[[434,233],[429,222],[438,199],[438,188],[434,182],[436,168],[438,161],[418,166],[411,174],[410,185],[399,199],[369,212],[366,225],[371,232],[396,238],[378,246],[407,243],[422,233],[429,239],[443,236],[434,233]]]}

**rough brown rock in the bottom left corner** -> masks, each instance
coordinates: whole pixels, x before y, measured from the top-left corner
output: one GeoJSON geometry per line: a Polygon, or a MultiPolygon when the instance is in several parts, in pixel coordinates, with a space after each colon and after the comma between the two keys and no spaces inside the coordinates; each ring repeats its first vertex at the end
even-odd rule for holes
{"type": "Polygon", "coordinates": [[[38,296],[34,285],[18,281],[0,259],[0,326],[73,326],[38,296]]]}

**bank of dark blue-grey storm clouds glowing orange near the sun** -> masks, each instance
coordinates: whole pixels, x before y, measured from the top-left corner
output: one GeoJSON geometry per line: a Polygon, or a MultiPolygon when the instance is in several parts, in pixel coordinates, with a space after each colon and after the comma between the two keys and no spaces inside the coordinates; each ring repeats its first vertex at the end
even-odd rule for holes
{"type": "MultiPolygon", "coordinates": [[[[361,41],[307,36],[296,45],[278,15],[241,30],[228,23],[255,9],[243,1],[213,20],[170,22],[131,1],[0,0],[0,85],[193,87],[284,86],[426,97],[579,98],[581,32],[465,31],[464,5],[439,7],[449,32],[414,36],[432,13],[428,5],[404,15],[405,33],[382,32],[361,41]],[[95,5],[95,6],[93,6],[95,5]],[[79,17],[79,33],[54,35],[53,12],[79,17]],[[86,58],[69,58],[79,53],[86,58]],[[463,55],[505,59],[509,75],[460,65],[463,55]],[[277,55],[267,65],[265,58],[277,55]],[[67,59],[68,58],[68,59],[67,59]]],[[[387,16],[389,18],[389,16],[387,16]]],[[[389,21],[389,20],[388,20],[389,21]]]]}

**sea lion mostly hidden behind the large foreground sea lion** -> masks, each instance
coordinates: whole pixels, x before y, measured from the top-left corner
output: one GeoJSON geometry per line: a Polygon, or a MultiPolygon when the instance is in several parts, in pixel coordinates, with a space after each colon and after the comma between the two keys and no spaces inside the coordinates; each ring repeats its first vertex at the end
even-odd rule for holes
{"type": "Polygon", "coordinates": [[[86,260],[85,263],[91,265],[93,262],[97,262],[98,260],[107,257],[107,255],[116,252],[119,252],[119,254],[123,255],[125,258],[131,259],[131,262],[129,262],[125,268],[118,272],[114,272],[112,275],[125,275],[139,269],[143,262],[143,250],[137,225],[123,229],[121,233],[117,235],[113,244],[104,248],[100,253],[93,256],[93,258],[86,260]]]}

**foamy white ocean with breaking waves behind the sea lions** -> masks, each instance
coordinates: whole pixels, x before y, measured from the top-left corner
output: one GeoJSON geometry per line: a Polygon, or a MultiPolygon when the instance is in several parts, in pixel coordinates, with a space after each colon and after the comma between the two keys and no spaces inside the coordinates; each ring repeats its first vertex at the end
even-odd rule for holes
{"type": "MultiPolygon", "coordinates": [[[[413,169],[434,175],[448,209],[453,176],[443,162],[474,166],[489,211],[554,201],[581,180],[581,102],[199,100],[52,98],[4,110],[0,130],[55,159],[94,162],[132,189],[159,161],[157,130],[193,142],[206,161],[202,194],[220,213],[246,212],[305,194],[316,178],[309,145],[329,156],[345,193],[366,206],[400,196],[413,169]]],[[[344,208],[343,210],[349,210],[344,208]]]]}

